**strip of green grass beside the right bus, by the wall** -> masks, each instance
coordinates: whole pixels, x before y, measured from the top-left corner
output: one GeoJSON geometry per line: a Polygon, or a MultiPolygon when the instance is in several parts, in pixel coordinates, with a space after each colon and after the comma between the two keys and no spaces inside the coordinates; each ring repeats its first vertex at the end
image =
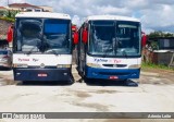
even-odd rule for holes
{"type": "Polygon", "coordinates": [[[156,69],[156,70],[169,70],[169,71],[174,71],[174,68],[169,68],[164,64],[154,64],[150,62],[142,62],[141,63],[142,69],[156,69]]]}

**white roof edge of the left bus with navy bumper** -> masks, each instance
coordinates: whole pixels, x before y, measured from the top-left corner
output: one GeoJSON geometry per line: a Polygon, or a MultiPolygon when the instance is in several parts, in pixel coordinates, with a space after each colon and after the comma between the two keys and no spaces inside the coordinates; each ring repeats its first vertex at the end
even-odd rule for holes
{"type": "Polygon", "coordinates": [[[15,17],[45,17],[45,19],[65,19],[71,20],[69,14],[51,12],[20,12],[15,17]]]}

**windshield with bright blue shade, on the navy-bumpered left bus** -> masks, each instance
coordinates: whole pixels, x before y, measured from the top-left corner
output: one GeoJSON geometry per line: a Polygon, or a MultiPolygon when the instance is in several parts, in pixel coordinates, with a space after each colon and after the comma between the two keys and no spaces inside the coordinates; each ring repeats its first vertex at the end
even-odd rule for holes
{"type": "Polygon", "coordinates": [[[70,20],[17,19],[16,51],[70,53],[70,20]]]}

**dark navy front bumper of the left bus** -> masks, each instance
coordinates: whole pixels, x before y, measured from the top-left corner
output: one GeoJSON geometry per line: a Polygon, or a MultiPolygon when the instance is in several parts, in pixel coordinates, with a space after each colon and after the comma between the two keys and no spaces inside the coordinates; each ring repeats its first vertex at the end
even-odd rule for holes
{"type": "Polygon", "coordinates": [[[13,69],[14,81],[70,81],[71,68],[13,69]]]}

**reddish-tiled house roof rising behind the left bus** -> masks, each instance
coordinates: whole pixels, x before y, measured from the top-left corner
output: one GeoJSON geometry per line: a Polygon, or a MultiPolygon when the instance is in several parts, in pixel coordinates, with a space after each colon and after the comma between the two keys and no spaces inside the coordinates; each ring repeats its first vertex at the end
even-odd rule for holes
{"type": "Polygon", "coordinates": [[[36,8],[36,9],[40,9],[39,7],[33,5],[29,3],[12,3],[12,4],[9,4],[9,8],[36,8]]]}

